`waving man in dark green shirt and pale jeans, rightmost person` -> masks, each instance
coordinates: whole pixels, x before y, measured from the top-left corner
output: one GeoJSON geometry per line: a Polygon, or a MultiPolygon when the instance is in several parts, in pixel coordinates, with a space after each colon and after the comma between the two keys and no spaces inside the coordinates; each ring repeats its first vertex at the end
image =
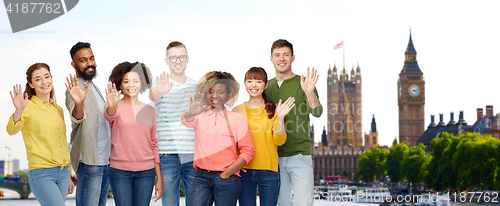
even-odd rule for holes
{"type": "Polygon", "coordinates": [[[292,72],[295,60],[293,46],[279,39],[271,46],[271,62],[276,77],[269,80],[267,96],[274,102],[295,98],[295,107],[285,116],[287,140],[278,147],[281,188],[279,206],[312,205],[314,176],[309,137],[309,114],[321,116],[323,107],[319,103],[316,82],[318,75],[312,68],[307,77],[292,72]],[[292,195],[293,191],[293,195],[292,195]]]}

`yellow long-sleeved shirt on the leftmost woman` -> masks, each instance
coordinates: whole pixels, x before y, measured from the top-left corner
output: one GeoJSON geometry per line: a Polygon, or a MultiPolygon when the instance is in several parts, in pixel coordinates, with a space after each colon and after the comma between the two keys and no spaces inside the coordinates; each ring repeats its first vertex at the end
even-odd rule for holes
{"type": "Polygon", "coordinates": [[[24,108],[21,120],[14,124],[14,115],[7,123],[7,133],[23,134],[28,156],[28,170],[66,167],[69,149],[62,108],[50,99],[50,104],[33,95],[24,108]]]}

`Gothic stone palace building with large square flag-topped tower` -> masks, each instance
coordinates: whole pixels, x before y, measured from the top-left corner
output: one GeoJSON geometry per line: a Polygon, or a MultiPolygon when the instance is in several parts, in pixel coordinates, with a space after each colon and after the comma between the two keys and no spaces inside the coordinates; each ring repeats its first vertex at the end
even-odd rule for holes
{"type": "MultiPolygon", "coordinates": [[[[375,117],[372,129],[363,134],[362,126],[362,78],[359,63],[350,72],[345,66],[338,72],[334,64],[328,69],[327,78],[327,119],[321,142],[311,149],[313,154],[314,177],[341,175],[352,180],[358,171],[358,159],[362,152],[378,146],[375,117]],[[365,141],[363,140],[363,135],[365,141]],[[366,141],[367,139],[367,141],[366,141]]],[[[314,130],[314,127],[311,127],[314,130]]],[[[314,132],[311,132],[314,142],[314,132]]]]}

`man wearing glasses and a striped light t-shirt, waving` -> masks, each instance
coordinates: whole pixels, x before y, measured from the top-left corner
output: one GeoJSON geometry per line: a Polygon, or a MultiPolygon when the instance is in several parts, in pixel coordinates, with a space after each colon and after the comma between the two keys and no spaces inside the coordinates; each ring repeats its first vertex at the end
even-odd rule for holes
{"type": "Polygon", "coordinates": [[[186,76],[189,57],[181,42],[174,41],[167,46],[165,62],[170,73],[163,71],[149,91],[149,99],[155,102],[156,108],[156,136],[163,177],[162,204],[179,205],[182,180],[186,205],[189,206],[196,174],[193,168],[194,131],[181,124],[181,114],[189,111],[189,99],[194,96],[197,81],[186,76]]]}

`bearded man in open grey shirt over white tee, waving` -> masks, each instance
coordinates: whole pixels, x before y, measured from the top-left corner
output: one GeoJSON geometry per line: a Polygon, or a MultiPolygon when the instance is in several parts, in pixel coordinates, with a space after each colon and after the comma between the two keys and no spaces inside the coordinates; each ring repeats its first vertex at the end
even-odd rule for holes
{"type": "Polygon", "coordinates": [[[96,61],[89,43],[78,42],[71,50],[71,66],[76,76],[67,80],[66,108],[70,113],[71,166],[76,172],[76,205],[105,206],[109,188],[109,156],[111,130],[104,119],[104,104],[99,88],[94,85],[96,61]],[[70,93],[82,94],[82,101],[70,93]],[[81,102],[81,103],[75,103],[81,102]]]}

